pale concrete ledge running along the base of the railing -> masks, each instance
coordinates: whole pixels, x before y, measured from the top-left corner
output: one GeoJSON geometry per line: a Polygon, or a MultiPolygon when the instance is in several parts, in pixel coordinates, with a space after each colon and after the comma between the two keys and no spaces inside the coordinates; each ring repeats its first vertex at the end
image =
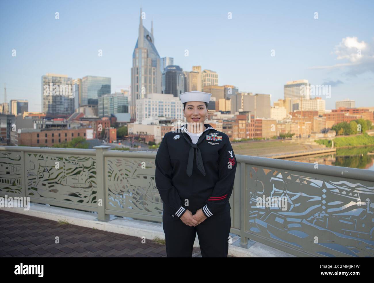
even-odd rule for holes
{"type": "MultiPolygon", "coordinates": [[[[145,237],[145,239],[154,239],[157,236],[160,239],[165,239],[162,223],[140,221],[117,216],[111,216],[109,221],[102,222],[98,221],[97,215],[91,212],[54,207],[49,206],[48,204],[39,203],[30,203],[30,210],[24,210],[22,207],[0,207],[0,210],[53,221],[65,220],[73,225],[126,234],[129,236],[145,237]]],[[[230,233],[230,235],[233,236],[233,243],[240,240],[239,236],[232,233],[230,233]]],[[[199,247],[199,239],[197,235],[193,246],[199,247]]],[[[229,244],[229,255],[236,257],[296,257],[258,242],[255,242],[251,247],[249,247],[249,249],[229,244]]]]}

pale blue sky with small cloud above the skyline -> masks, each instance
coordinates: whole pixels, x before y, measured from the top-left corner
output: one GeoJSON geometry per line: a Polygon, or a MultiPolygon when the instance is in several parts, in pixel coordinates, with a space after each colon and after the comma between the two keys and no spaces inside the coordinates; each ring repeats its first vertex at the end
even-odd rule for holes
{"type": "Polygon", "coordinates": [[[272,103],[283,98],[287,81],[308,79],[332,85],[327,109],[345,98],[374,106],[374,2],[326,0],[3,0],[0,102],[5,82],[8,102],[28,99],[29,111],[40,111],[46,73],[111,77],[112,92],[130,85],[140,7],[148,30],[153,20],[160,56],[173,57],[183,70],[201,65],[218,73],[219,85],[271,94],[272,103]]]}

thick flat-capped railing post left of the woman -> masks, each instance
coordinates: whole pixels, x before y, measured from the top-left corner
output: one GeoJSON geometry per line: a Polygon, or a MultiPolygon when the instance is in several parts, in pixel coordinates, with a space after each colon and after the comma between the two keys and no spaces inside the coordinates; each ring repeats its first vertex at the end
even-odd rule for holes
{"type": "Polygon", "coordinates": [[[96,150],[96,186],[97,186],[97,220],[98,221],[108,221],[110,216],[105,214],[105,208],[107,206],[107,196],[105,193],[105,180],[107,178],[105,173],[105,157],[104,150],[108,150],[110,147],[108,145],[99,145],[93,147],[96,150]],[[99,201],[101,204],[99,205],[99,201]]]}

